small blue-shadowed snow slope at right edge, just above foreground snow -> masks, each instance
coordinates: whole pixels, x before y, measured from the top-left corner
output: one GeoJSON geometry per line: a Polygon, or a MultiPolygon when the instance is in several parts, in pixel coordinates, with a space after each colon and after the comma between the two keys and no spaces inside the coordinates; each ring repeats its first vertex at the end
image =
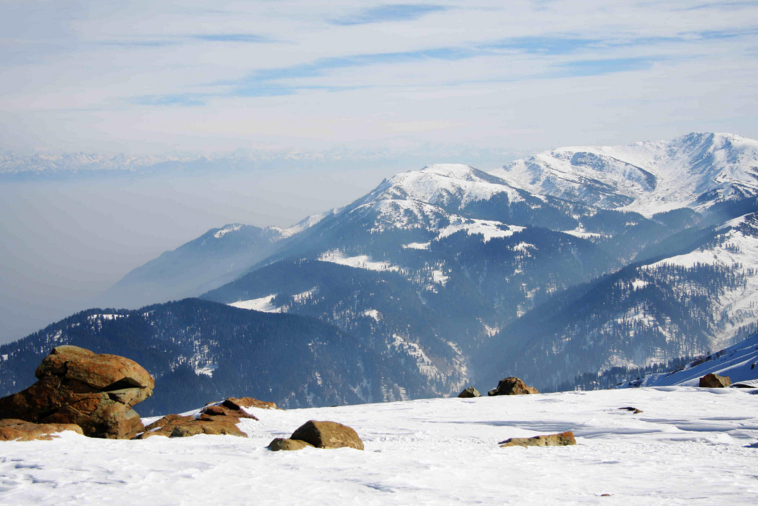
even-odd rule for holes
{"type": "Polygon", "coordinates": [[[709,373],[729,376],[732,383],[746,383],[758,387],[758,334],[734,346],[716,351],[704,359],[688,364],[684,370],[672,374],[651,374],[644,377],[640,386],[697,386],[700,378],[709,373]]]}

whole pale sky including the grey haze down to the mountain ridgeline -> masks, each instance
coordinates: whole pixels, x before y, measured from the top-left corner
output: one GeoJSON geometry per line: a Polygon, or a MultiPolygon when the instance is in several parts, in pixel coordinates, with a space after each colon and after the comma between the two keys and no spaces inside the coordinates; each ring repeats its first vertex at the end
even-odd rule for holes
{"type": "Polygon", "coordinates": [[[4,0],[0,343],[205,230],[287,226],[403,170],[756,139],[756,61],[758,1],[4,0]],[[89,177],[79,153],[211,161],[89,177]]]}

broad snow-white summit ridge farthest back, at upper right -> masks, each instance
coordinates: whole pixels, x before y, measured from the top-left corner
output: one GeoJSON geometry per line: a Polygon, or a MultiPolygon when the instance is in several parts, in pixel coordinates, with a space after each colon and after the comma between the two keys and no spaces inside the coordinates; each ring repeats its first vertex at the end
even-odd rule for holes
{"type": "Polygon", "coordinates": [[[535,194],[650,216],[698,198],[758,195],[758,141],[691,133],[669,141],[558,148],[492,173],[535,194]]]}

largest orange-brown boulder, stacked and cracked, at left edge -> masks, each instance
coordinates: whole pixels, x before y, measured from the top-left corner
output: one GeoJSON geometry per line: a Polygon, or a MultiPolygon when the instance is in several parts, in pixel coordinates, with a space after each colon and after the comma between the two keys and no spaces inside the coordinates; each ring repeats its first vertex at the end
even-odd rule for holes
{"type": "Polygon", "coordinates": [[[132,407],[149,398],[155,379],[135,361],[58,346],[37,367],[37,383],[0,398],[0,419],[74,423],[85,436],[129,439],[143,430],[132,407]]]}

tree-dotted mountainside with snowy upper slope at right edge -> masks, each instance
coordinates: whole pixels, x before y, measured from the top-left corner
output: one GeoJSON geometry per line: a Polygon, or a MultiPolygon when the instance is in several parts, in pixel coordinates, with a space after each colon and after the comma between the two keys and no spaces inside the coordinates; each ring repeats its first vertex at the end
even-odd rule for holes
{"type": "Polygon", "coordinates": [[[753,212],[672,236],[662,249],[681,254],[556,295],[495,336],[478,364],[490,382],[512,370],[553,389],[578,372],[666,363],[740,341],[758,330],[756,225],[753,212]],[[688,245],[676,251],[678,243],[688,245]]]}

